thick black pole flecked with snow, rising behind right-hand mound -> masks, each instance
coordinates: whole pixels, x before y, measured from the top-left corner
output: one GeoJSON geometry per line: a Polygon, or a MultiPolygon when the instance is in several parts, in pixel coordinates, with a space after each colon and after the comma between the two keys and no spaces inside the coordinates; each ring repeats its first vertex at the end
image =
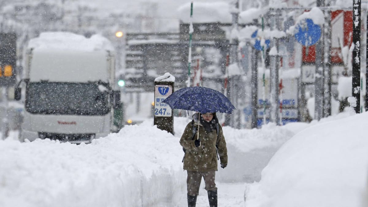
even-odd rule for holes
{"type": "Polygon", "coordinates": [[[353,81],[352,94],[355,97],[355,113],[360,113],[360,10],[361,1],[353,1],[353,81]]]}

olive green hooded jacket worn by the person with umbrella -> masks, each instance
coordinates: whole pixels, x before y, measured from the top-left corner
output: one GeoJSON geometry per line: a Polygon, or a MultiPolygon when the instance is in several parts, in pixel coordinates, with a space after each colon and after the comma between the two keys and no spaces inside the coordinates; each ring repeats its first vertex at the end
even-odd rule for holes
{"type": "MultiPolygon", "coordinates": [[[[216,129],[213,129],[212,132],[206,132],[202,125],[198,126],[197,122],[195,125],[197,125],[198,129],[193,140],[192,122],[185,127],[180,139],[181,146],[186,150],[184,170],[197,172],[217,171],[216,129]],[[201,146],[195,147],[194,140],[197,139],[198,133],[201,146]]],[[[218,152],[221,163],[227,164],[227,148],[221,126],[219,126],[218,152]]]]}

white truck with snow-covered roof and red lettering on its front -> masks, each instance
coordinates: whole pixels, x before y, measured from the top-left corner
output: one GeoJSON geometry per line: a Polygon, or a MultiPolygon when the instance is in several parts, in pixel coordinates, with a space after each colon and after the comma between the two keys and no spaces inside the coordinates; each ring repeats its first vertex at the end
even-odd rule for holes
{"type": "Polygon", "coordinates": [[[89,143],[107,136],[114,129],[114,109],[121,106],[114,70],[114,49],[100,35],[45,32],[31,39],[24,79],[15,89],[20,100],[25,82],[20,140],[89,143]]]}

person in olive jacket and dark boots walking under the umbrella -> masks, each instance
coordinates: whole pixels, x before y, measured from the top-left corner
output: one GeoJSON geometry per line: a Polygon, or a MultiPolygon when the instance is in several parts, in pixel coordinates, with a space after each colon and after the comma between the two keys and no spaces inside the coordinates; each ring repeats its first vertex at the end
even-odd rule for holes
{"type": "Polygon", "coordinates": [[[188,207],[195,207],[202,177],[208,193],[209,206],[217,207],[217,160],[220,157],[222,168],[227,166],[227,148],[216,113],[194,114],[193,120],[181,136],[180,144],[185,151],[183,168],[188,174],[188,207]]]}

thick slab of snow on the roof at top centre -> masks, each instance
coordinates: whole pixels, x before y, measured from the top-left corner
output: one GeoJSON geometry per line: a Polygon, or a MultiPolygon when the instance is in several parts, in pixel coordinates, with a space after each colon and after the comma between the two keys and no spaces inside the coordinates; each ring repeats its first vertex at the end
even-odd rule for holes
{"type": "MultiPolygon", "coordinates": [[[[190,2],[178,8],[178,18],[183,23],[190,22],[190,2]]],[[[229,3],[218,2],[194,2],[193,3],[193,23],[220,22],[230,24],[232,22],[229,3]]]]}

